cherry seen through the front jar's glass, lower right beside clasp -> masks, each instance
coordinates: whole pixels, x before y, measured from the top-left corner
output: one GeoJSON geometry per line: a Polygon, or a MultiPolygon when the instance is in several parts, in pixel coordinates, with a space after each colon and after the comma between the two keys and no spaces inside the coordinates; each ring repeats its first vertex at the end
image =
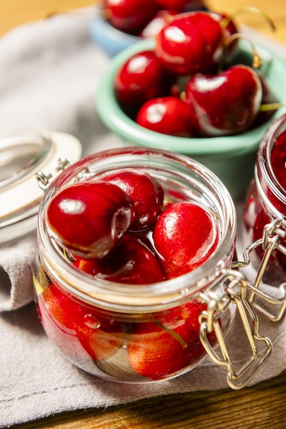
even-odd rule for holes
{"type": "MultiPolygon", "coordinates": [[[[162,380],[204,356],[198,316],[206,305],[193,301],[173,310],[160,321],[134,323],[128,343],[128,359],[134,371],[162,380]]],[[[215,343],[215,334],[208,336],[215,343]]]]}

